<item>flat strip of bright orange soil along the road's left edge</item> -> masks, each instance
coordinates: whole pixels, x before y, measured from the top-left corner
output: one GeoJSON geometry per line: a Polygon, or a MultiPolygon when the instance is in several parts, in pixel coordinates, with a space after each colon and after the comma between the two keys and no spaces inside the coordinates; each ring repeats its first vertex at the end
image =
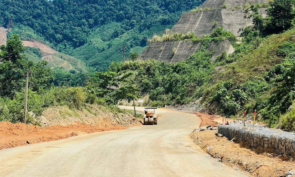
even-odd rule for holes
{"type": "MultiPolygon", "coordinates": [[[[142,125],[140,123],[132,126],[142,125]]],[[[0,150],[39,142],[48,142],[64,139],[81,134],[94,133],[98,131],[122,130],[125,126],[98,127],[83,124],[79,121],[75,125],[39,127],[22,123],[12,124],[0,122],[0,150]]]]}

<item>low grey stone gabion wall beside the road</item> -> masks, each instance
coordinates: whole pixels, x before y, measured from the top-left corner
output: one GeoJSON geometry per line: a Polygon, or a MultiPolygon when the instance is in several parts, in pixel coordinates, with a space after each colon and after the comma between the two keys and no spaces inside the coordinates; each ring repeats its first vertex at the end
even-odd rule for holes
{"type": "Polygon", "coordinates": [[[294,133],[258,126],[256,131],[249,131],[242,130],[241,127],[241,124],[218,125],[218,133],[230,139],[236,137],[240,142],[248,143],[251,148],[262,148],[265,152],[295,157],[294,133]]]}

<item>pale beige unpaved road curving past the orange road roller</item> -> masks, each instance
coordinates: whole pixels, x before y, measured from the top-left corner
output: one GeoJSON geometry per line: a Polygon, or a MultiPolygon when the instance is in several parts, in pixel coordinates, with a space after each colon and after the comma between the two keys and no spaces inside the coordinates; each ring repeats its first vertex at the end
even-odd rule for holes
{"type": "Polygon", "coordinates": [[[196,115],[157,113],[158,125],[2,150],[0,176],[245,176],[192,142],[189,134],[200,124],[196,115]]]}

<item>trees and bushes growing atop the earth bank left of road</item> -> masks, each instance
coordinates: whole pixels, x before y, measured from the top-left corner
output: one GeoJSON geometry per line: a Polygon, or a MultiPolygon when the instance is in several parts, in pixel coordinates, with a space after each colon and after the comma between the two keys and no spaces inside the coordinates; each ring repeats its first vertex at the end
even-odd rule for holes
{"type": "MultiPolygon", "coordinates": [[[[28,53],[35,57],[40,54],[38,50],[28,49],[28,53]]],[[[22,121],[27,69],[30,73],[28,112],[34,112],[36,116],[51,106],[67,105],[70,109],[82,109],[86,104],[99,104],[113,109],[112,105],[121,99],[137,98],[136,87],[121,84],[133,74],[126,71],[119,74],[95,73],[87,78],[86,87],[55,87],[52,83],[54,75],[45,68],[47,62],[34,64],[22,53],[25,50],[18,35],[12,35],[6,45],[0,46],[0,121],[22,121]]],[[[27,120],[28,123],[33,122],[29,114],[27,120]]]]}

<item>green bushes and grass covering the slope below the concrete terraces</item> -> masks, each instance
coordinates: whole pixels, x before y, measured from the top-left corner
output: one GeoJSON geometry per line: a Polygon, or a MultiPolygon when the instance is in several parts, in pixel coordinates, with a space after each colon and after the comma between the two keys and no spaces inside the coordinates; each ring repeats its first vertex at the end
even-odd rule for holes
{"type": "Polygon", "coordinates": [[[146,104],[182,105],[201,98],[201,104],[209,111],[235,117],[242,116],[245,110],[251,116],[257,109],[258,118],[270,126],[279,123],[283,130],[294,131],[294,124],[288,123],[294,119],[293,111],[287,111],[295,99],[295,29],[289,29],[294,9],[279,1],[271,3],[268,11],[285,6],[283,16],[272,11],[269,17],[263,18],[257,6],[251,7],[254,25],[244,30],[239,44],[236,36],[219,27],[202,39],[190,39],[202,42],[202,46],[186,61],[177,64],[129,61],[123,65],[112,63],[110,68],[135,70],[137,74],[131,79],[141,94],[150,95],[151,102],[146,104]],[[284,23],[278,23],[277,18],[284,23]],[[261,21],[263,24],[259,24],[261,21]],[[274,26],[278,29],[273,32],[280,34],[269,35],[269,29],[274,26]],[[286,29],[289,30],[282,32],[286,29]],[[208,52],[207,47],[212,41],[217,45],[224,39],[233,45],[234,53],[223,52],[212,62],[214,50],[208,52]]]}

